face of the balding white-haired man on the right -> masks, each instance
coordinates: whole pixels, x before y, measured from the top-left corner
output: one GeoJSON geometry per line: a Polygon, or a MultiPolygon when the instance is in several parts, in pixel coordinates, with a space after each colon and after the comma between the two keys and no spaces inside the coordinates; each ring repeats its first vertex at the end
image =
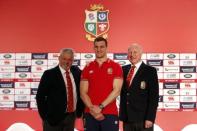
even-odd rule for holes
{"type": "Polygon", "coordinates": [[[141,60],[141,56],[142,51],[139,47],[134,46],[128,50],[128,59],[133,65],[137,64],[141,60]]]}

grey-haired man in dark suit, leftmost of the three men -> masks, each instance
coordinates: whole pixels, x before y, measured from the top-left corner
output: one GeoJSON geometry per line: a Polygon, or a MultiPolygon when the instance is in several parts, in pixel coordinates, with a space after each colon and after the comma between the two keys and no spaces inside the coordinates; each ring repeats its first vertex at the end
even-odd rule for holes
{"type": "Polygon", "coordinates": [[[73,131],[76,116],[82,114],[81,70],[72,65],[73,60],[73,50],[62,49],[59,65],[46,70],[41,78],[36,101],[44,131],[73,131]]]}

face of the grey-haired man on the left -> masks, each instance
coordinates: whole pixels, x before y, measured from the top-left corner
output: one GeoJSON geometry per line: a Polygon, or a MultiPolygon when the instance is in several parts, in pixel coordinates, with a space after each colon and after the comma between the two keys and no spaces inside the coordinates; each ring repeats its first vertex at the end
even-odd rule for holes
{"type": "Polygon", "coordinates": [[[73,63],[73,56],[69,53],[62,53],[60,56],[59,56],[59,65],[65,69],[65,70],[68,70],[70,69],[72,63],[73,63]]]}

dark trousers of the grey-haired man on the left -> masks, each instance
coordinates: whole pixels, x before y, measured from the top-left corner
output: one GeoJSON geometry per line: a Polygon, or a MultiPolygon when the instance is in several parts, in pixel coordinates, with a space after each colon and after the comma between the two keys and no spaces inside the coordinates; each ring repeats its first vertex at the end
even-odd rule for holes
{"type": "Polygon", "coordinates": [[[69,113],[65,119],[56,126],[51,126],[47,121],[44,121],[43,131],[74,131],[75,119],[75,113],[69,113]]]}

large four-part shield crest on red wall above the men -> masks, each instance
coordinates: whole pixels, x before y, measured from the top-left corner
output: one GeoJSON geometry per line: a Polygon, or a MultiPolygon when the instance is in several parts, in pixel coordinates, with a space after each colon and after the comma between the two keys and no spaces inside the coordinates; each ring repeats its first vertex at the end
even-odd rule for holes
{"type": "Polygon", "coordinates": [[[86,31],[86,39],[89,41],[94,41],[98,36],[103,38],[108,37],[109,30],[109,10],[104,10],[103,5],[94,4],[90,5],[90,10],[85,10],[86,19],[84,23],[84,28],[86,31]]]}

